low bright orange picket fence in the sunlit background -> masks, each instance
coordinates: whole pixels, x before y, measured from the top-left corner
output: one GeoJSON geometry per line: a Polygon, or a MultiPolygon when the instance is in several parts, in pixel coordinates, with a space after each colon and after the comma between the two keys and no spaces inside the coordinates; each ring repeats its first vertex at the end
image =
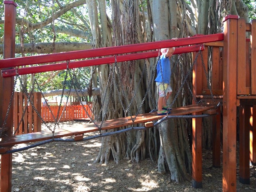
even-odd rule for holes
{"type": "Polygon", "coordinates": [[[89,107],[92,108],[92,105],[84,105],[84,108],[89,114],[88,116],[82,105],[66,106],[64,111],[64,106],[60,106],[60,110],[58,106],[50,106],[52,112],[49,110],[48,107],[42,106],[41,116],[46,123],[55,122],[56,120],[53,118],[53,116],[56,118],[59,110],[59,118],[63,111],[63,115],[60,118],[60,122],[73,120],[90,120],[90,117],[92,117],[92,111],[89,107]]]}

